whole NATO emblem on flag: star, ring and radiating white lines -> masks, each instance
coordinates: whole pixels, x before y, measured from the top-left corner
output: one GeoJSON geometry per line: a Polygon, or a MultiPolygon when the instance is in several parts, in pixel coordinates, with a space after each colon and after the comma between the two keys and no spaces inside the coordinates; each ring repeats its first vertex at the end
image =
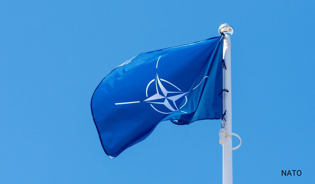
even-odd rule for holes
{"type": "MultiPolygon", "coordinates": [[[[157,64],[160,58],[161,56],[157,59],[157,64]]],[[[205,78],[208,78],[208,76],[204,77],[203,79],[205,78]]],[[[202,81],[192,90],[196,89],[202,83],[202,81]]],[[[159,78],[158,74],[156,74],[155,79],[152,79],[146,86],[146,99],[143,101],[150,104],[150,106],[157,112],[170,114],[174,111],[181,111],[180,109],[186,105],[187,93],[188,92],[180,90],[177,86],[170,83],[169,81],[159,78]],[[148,95],[148,91],[150,91],[152,94],[148,95]],[[181,103],[184,99],[184,104],[180,106],[179,103],[181,103]]],[[[131,103],[140,103],[140,101],[115,103],[115,105],[131,103]]],[[[185,111],[181,112],[187,113],[185,111]]]]}

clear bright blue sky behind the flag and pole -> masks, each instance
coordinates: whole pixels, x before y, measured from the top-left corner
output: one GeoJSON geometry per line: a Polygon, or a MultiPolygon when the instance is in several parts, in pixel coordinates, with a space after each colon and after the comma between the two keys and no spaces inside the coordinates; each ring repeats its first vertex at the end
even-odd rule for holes
{"type": "Polygon", "coordinates": [[[0,183],[221,183],[220,121],[162,122],[112,160],[90,99],[130,57],[218,36],[225,22],[234,27],[233,132],[243,140],[234,183],[315,182],[314,5],[1,1],[0,183]]]}

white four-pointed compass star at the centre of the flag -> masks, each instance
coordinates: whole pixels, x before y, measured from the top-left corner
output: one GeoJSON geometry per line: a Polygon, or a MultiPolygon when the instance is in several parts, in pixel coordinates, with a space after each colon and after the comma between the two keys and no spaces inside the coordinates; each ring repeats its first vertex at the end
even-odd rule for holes
{"type": "Polygon", "coordinates": [[[163,104],[171,111],[178,111],[175,101],[178,100],[180,97],[186,95],[187,92],[167,91],[162,85],[158,76],[156,76],[155,78],[155,86],[157,89],[157,93],[144,101],[152,104],[163,104]]]}

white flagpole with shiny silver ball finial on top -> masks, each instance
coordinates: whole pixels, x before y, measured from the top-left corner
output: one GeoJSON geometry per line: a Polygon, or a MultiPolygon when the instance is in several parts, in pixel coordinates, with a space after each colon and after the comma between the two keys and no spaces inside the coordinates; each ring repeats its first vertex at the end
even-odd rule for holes
{"type": "MultiPolygon", "coordinates": [[[[222,120],[222,127],[227,133],[232,133],[232,86],[231,86],[231,40],[233,27],[230,24],[222,24],[219,27],[219,33],[224,34],[223,40],[223,59],[226,68],[223,68],[223,89],[229,92],[223,93],[223,112],[226,111],[222,120]],[[223,124],[224,123],[224,124],[223,124]]],[[[232,168],[232,135],[226,135],[223,146],[222,159],[222,180],[223,184],[233,183],[233,168],[232,168]]]]}

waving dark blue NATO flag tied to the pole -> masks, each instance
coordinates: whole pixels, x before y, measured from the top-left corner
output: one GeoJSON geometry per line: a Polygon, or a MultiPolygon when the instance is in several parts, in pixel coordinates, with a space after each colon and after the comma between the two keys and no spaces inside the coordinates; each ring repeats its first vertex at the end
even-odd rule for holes
{"type": "Polygon", "coordinates": [[[110,158],[148,137],[159,122],[222,117],[222,37],[141,53],[97,86],[91,111],[110,158]]]}

